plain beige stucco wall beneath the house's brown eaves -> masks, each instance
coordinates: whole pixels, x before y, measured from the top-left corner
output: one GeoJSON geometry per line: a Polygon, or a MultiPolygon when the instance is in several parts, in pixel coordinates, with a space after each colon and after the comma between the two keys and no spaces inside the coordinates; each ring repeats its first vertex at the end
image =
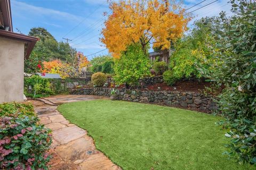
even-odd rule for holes
{"type": "Polygon", "coordinates": [[[24,43],[0,37],[0,103],[23,101],[24,43]]]}

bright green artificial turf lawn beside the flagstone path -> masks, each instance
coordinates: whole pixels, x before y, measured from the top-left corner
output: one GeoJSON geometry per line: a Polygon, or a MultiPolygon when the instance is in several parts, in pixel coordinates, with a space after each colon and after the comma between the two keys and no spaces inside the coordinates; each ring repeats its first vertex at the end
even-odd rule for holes
{"type": "Polygon", "coordinates": [[[123,169],[253,169],[222,155],[228,139],[213,115],[179,108],[91,100],[59,106],[97,149],[123,169]]]}

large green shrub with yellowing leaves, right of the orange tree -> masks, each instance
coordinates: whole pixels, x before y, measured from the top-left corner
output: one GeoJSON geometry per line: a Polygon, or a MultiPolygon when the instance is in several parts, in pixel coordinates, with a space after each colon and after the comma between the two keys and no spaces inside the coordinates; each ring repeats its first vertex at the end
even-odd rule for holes
{"type": "Polygon", "coordinates": [[[212,65],[219,64],[220,61],[212,55],[217,49],[212,29],[219,29],[219,23],[216,17],[197,20],[191,33],[174,44],[175,52],[170,57],[169,67],[176,78],[202,78],[212,65]]]}

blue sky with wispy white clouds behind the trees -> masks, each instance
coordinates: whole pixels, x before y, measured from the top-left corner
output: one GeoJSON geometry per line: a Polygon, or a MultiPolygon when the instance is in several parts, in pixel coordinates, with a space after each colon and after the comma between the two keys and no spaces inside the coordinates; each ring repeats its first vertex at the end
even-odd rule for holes
{"type": "MultiPolygon", "coordinates": [[[[202,1],[185,0],[184,3],[186,8],[189,8],[202,1]]],[[[214,1],[206,0],[189,9],[188,12],[214,1]]],[[[109,12],[106,0],[11,0],[11,8],[15,32],[18,28],[27,35],[33,27],[44,27],[58,41],[62,41],[63,37],[72,39],[69,42],[71,46],[85,55],[105,49],[99,37],[103,21],[106,19],[103,12],[109,12]]],[[[228,0],[214,2],[193,12],[195,18],[190,21],[189,25],[204,16],[219,15],[221,11],[230,13],[230,8],[228,0]]],[[[105,50],[97,55],[103,54],[108,54],[108,51],[105,50]]]]}

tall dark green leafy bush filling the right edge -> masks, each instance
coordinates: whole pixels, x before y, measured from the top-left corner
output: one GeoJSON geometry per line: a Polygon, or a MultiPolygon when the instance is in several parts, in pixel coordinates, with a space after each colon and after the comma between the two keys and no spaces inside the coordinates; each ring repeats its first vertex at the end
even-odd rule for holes
{"type": "Polygon", "coordinates": [[[226,120],[218,123],[230,130],[225,134],[230,138],[226,154],[256,165],[256,3],[232,0],[231,5],[235,15],[221,13],[223,28],[215,37],[222,64],[212,80],[226,86],[219,102],[226,120]]]}

